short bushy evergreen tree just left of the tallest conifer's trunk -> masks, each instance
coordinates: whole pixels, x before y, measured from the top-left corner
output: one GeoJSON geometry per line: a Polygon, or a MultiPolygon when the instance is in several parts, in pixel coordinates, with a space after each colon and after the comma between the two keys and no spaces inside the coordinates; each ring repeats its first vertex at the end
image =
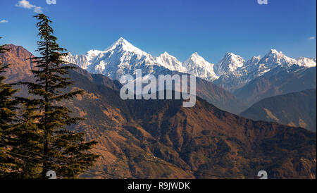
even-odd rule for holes
{"type": "Polygon", "coordinates": [[[37,108],[22,104],[23,112],[19,116],[11,137],[6,144],[11,147],[9,154],[15,158],[15,170],[10,178],[41,178],[43,133],[37,127],[37,108]]]}

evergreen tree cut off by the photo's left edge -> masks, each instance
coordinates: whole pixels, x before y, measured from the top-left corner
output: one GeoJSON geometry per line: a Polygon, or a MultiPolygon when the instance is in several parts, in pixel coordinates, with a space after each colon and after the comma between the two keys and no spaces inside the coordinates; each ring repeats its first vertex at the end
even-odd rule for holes
{"type": "MultiPolygon", "coordinates": [[[[8,51],[5,46],[0,46],[0,54],[8,51]]],[[[15,166],[13,159],[8,154],[10,148],[4,144],[15,122],[15,105],[17,104],[13,98],[13,94],[17,90],[13,89],[11,84],[4,83],[6,77],[1,75],[8,67],[9,65],[4,66],[3,63],[0,63],[0,178],[6,178],[15,166]]]]}

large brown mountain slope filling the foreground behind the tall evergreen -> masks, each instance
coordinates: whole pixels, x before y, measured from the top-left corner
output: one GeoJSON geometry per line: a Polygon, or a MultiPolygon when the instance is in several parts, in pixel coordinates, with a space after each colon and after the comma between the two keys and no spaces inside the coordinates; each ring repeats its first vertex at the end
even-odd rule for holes
{"type": "Polygon", "coordinates": [[[101,154],[99,171],[86,177],[103,170],[115,174],[108,178],[257,178],[266,170],[268,178],[316,178],[313,132],[254,122],[200,98],[193,108],[180,100],[123,101],[106,77],[96,82],[80,69],[70,77],[69,89],[85,94],[62,105],[86,118],[70,129],[97,140],[93,151],[101,154]]]}

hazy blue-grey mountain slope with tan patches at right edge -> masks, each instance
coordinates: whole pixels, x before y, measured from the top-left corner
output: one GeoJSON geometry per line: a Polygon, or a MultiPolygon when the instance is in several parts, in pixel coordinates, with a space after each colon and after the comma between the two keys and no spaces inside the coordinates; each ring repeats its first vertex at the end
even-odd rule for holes
{"type": "Polygon", "coordinates": [[[262,99],[241,116],[303,127],[316,132],[316,89],[262,99]]]}

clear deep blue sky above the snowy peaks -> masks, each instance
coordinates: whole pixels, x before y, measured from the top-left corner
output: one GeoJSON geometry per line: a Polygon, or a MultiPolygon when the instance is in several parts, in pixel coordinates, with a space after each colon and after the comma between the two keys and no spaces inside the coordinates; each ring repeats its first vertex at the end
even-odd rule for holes
{"type": "Polygon", "coordinates": [[[54,21],[58,43],[73,54],[106,49],[123,37],[153,56],[168,51],[180,61],[195,51],[211,63],[228,51],[244,59],[270,49],[316,57],[316,0],[18,1],[0,0],[0,44],[32,52],[37,35],[32,15],[42,11],[54,21]]]}

